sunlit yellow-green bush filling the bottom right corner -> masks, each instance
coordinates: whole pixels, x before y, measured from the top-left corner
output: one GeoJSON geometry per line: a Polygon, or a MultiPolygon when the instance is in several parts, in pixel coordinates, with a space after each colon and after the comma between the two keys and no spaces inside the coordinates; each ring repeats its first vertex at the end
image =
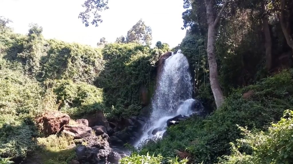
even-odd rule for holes
{"type": "Polygon", "coordinates": [[[292,110],[284,111],[283,118],[272,124],[268,132],[252,132],[239,127],[244,138],[237,140],[237,148],[231,143],[232,154],[224,156],[221,163],[292,163],[292,118],[292,110]],[[239,150],[242,147],[250,148],[252,153],[241,153],[239,150]]]}

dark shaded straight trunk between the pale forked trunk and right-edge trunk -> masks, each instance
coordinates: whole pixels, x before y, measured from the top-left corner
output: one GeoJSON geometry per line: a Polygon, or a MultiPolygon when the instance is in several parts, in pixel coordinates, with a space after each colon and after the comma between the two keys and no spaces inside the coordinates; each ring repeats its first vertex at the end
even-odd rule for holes
{"type": "MultiPolygon", "coordinates": [[[[262,4],[263,13],[265,13],[265,4],[262,4]]],[[[268,17],[263,16],[263,31],[265,33],[265,61],[266,69],[270,71],[272,68],[272,38],[270,34],[270,27],[268,17]]]]}

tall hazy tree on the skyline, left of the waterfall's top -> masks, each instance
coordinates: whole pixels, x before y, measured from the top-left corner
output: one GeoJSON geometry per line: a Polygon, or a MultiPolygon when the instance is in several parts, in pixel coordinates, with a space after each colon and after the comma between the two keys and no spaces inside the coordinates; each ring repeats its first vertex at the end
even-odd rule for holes
{"type": "Polygon", "coordinates": [[[151,27],[147,26],[142,19],[140,19],[132,28],[127,32],[126,41],[136,42],[144,45],[151,45],[151,27]]]}

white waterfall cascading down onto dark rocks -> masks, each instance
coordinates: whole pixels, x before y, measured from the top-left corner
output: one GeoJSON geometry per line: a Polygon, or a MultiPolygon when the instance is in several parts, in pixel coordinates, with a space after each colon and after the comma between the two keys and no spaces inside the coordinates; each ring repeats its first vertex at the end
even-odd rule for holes
{"type": "Polygon", "coordinates": [[[151,102],[152,113],[143,128],[142,137],[134,144],[136,148],[148,139],[161,138],[166,131],[168,119],[177,115],[189,116],[196,112],[194,105],[198,102],[191,99],[192,89],[188,60],[179,49],[165,60],[151,102]]]}

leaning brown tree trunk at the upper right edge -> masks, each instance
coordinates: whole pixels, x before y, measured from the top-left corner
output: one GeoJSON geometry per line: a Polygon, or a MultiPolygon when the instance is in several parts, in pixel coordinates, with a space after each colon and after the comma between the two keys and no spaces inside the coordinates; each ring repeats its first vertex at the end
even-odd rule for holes
{"type": "Polygon", "coordinates": [[[286,6],[286,0],[281,0],[281,15],[279,16],[280,18],[280,24],[282,31],[284,33],[285,39],[287,41],[287,44],[289,47],[291,47],[292,52],[293,52],[293,40],[291,37],[291,34],[289,33],[289,22],[286,22],[285,20],[285,6],[286,6]]]}

